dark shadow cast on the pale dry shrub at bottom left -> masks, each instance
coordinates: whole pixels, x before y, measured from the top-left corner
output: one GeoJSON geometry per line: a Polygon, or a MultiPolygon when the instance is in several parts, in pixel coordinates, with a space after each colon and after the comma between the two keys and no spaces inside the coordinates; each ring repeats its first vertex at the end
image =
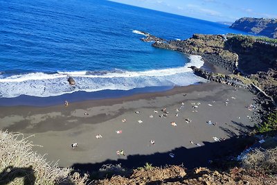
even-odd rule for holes
{"type": "Polygon", "coordinates": [[[24,178],[24,185],[35,184],[35,173],[33,166],[28,168],[17,168],[8,166],[0,173],[0,184],[10,184],[16,178],[24,178]]]}

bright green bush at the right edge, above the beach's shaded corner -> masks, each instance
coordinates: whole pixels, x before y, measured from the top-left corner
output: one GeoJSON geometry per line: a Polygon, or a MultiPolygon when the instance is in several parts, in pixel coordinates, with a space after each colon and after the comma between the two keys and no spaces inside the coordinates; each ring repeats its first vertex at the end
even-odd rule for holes
{"type": "Polygon", "coordinates": [[[265,122],[263,122],[261,125],[256,126],[256,130],[259,133],[265,133],[265,132],[276,132],[277,131],[277,111],[272,112],[267,116],[267,119],[265,122]]]}

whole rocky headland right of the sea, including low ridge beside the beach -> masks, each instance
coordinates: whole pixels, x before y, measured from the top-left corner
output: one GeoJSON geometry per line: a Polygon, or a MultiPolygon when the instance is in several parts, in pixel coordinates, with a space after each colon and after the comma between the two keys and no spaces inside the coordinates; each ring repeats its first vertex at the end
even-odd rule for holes
{"type": "Polygon", "coordinates": [[[276,109],[277,102],[277,44],[246,35],[195,34],[186,40],[154,42],[152,46],[190,55],[201,55],[231,72],[216,75],[203,69],[193,71],[198,76],[235,87],[245,87],[262,96],[265,109],[276,109]],[[270,103],[271,102],[271,103],[270,103]]]}

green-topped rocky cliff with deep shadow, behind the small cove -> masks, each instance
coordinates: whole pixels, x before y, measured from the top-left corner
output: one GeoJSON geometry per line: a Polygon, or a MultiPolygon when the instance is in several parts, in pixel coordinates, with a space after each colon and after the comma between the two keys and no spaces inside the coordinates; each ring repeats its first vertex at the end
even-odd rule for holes
{"type": "Polygon", "coordinates": [[[152,46],[202,55],[204,61],[249,75],[277,69],[277,44],[260,41],[256,37],[195,34],[186,40],[154,42],[152,46]]]}

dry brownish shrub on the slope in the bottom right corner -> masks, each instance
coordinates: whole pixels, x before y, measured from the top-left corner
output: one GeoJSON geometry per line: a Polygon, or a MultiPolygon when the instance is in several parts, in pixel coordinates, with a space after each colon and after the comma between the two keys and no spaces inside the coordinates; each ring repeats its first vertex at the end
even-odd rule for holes
{"type": "Polygon", "coordinates": [[[264,173],[277,174],[277,147],[265,151],[253,150],[243,159],[242,166],[264,173]]]}

